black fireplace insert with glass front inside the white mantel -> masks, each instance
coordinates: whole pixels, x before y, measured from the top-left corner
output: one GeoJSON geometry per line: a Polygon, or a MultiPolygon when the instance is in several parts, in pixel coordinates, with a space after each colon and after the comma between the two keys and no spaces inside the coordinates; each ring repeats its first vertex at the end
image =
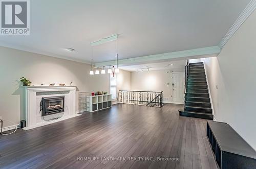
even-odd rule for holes
{"type": "Polygon", "coordinates": [[[42,98],[41,110],[42,116],[64,112],[65,96],[54,96],[42,98]]]}

